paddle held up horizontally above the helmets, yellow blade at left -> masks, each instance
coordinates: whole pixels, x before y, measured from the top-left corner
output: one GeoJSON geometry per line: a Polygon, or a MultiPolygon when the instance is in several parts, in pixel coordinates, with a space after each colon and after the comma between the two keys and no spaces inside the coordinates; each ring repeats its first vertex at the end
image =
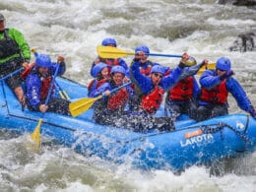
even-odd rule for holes
{"type": "MultiPolygon", "coordinates": [[[[125,51],[112,46],[97,46],[97,54],[100,58],[120,58],[127,55],[135,55],[135,52],[125,51]]],[[[148,53],[150,56],[160,56],[160,57],[182,57],[182,55],[170,55],[170,54],[160,54],[160,53],[148,53]]]]}

